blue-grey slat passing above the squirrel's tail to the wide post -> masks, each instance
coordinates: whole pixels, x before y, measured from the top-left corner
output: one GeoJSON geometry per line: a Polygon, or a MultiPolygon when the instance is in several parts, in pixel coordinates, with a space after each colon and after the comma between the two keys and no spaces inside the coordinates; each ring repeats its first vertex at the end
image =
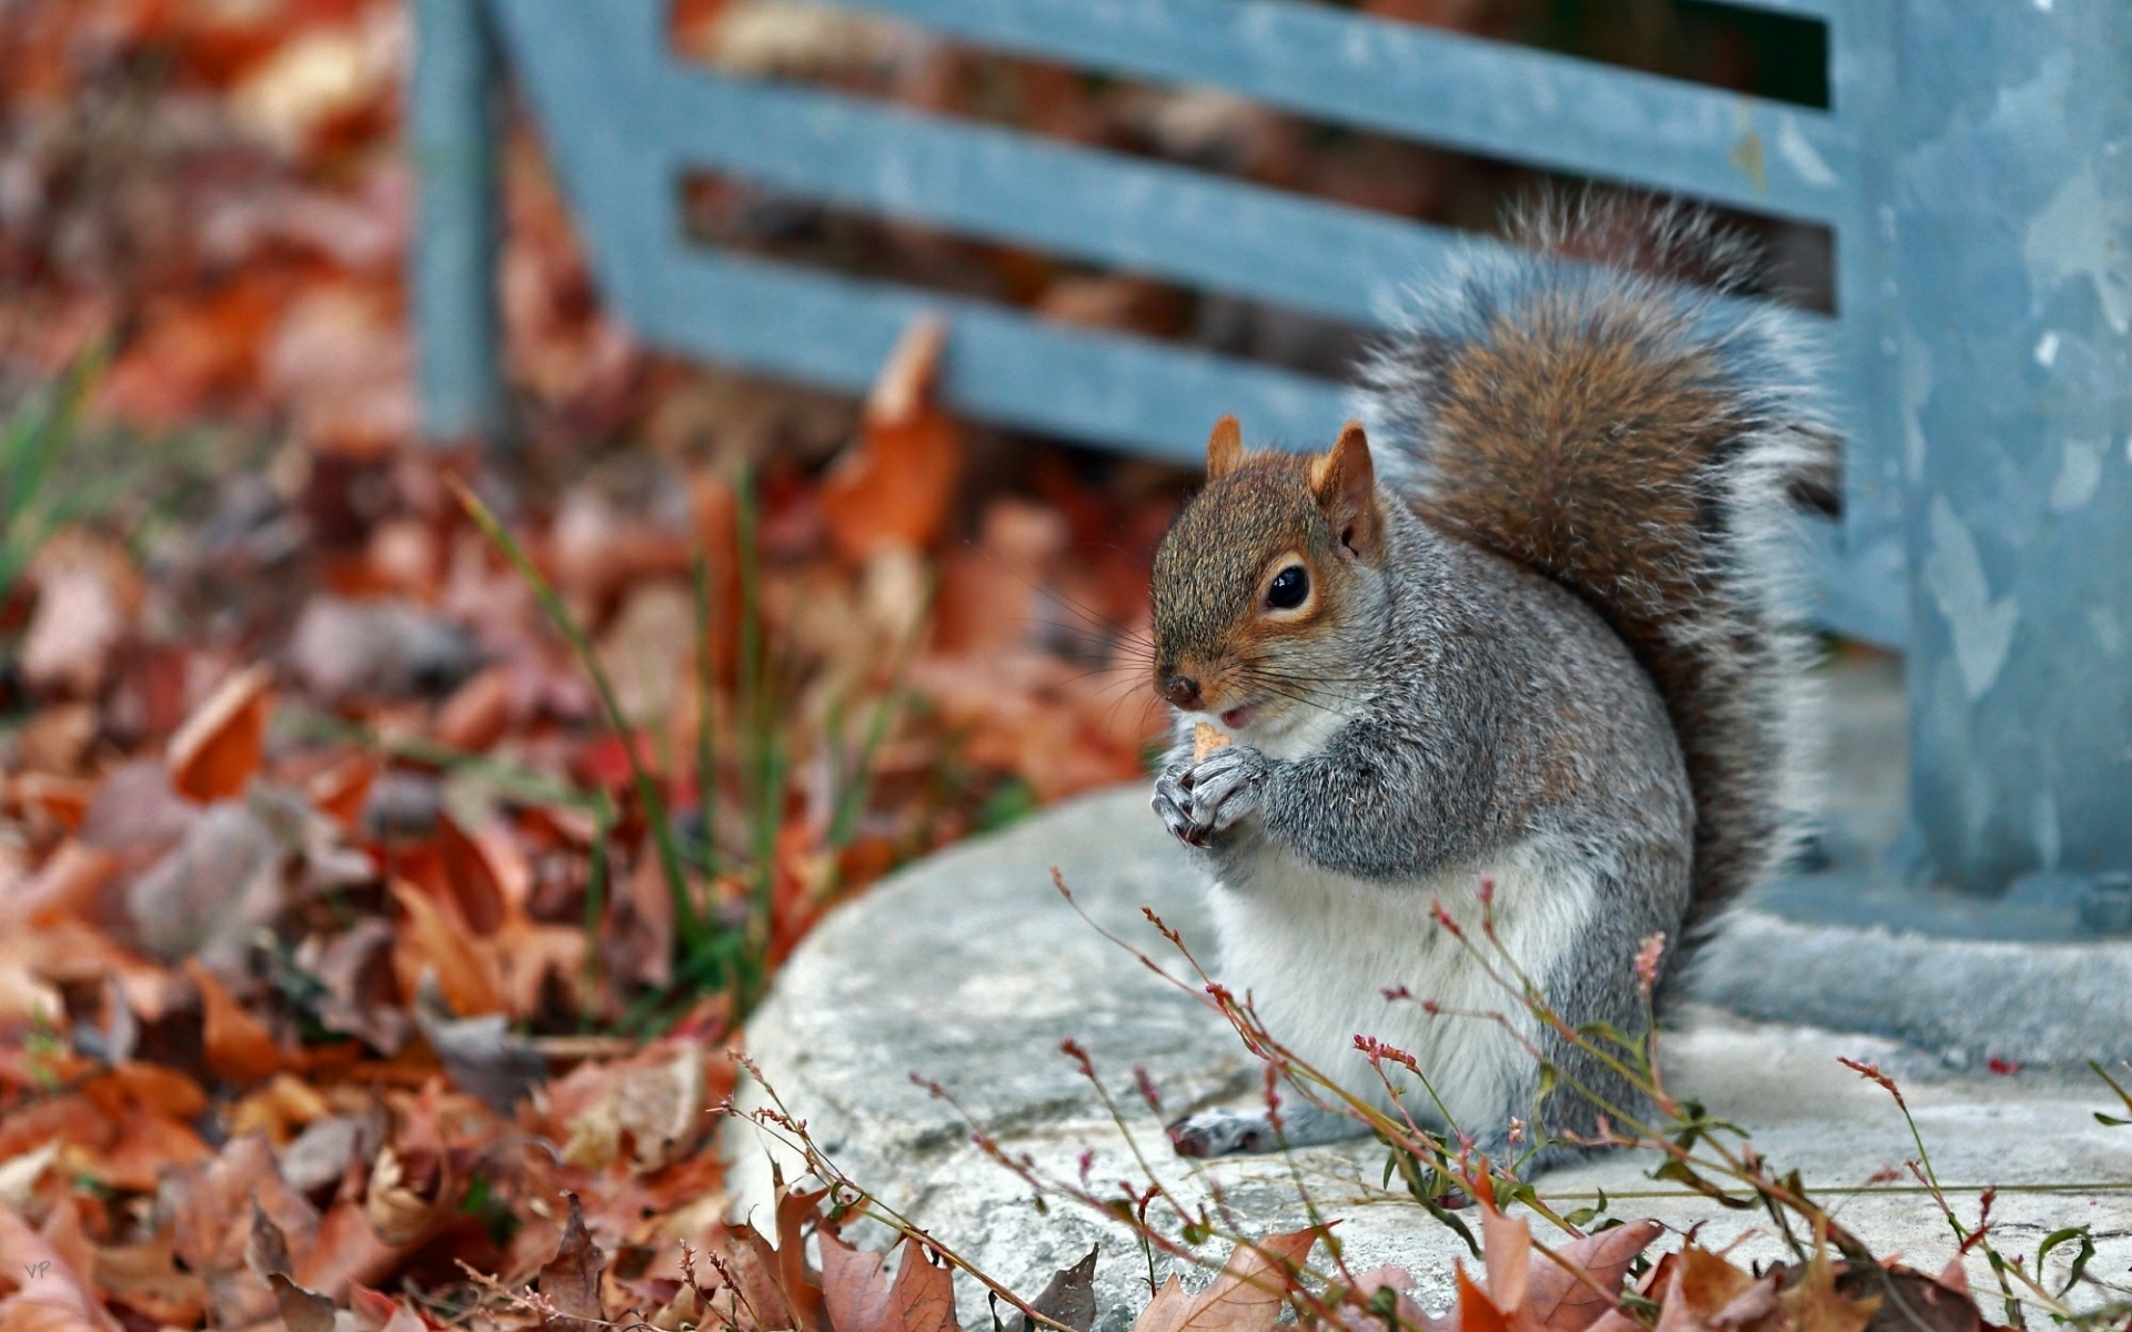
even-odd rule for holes
{"type": "Polygon", "coordinates": [[[1296,0],[863,2],[970,43],[1603,181],[1823,222],[1853,205],[1853,134],[1829,113],[1414,23],[1296,0]]]}

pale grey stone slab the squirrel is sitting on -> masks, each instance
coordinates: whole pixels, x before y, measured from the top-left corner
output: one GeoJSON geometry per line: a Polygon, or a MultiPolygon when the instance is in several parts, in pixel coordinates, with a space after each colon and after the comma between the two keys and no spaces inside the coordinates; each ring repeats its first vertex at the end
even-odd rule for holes
{"type": "MultiPolygon", "coordinates": [[[[1158,1117],[1130,1093],[1132,1068],[1145,1066],[1170,1110],[1183,1110],[1249,1095],[1256,1063],[1190,993],[1083,923],[1053,891],[1051,865],[1100,925],[1149,953],[1166,957],[1166,946],[1141,906],[1156,908],[1188,942],[1211,946],[1198,884],[1138,789],[1087,797],[934,857],[825,921],[748,1027],[750,1051],[817,1142],[851,1176],[1023,1294],[1100,1245],[1100,1326],[1124,1328],[1145,1302],[1145,1266],[1130,1234],[1072,1204],[1038,1213],[1030,1189],[970,1144],[955,1110],[910,1083],[919,1072],[951,1087],[985,1132],[1053,1174],[1075,1174],[1081,1153],[1094,1151],[1096,1181],[1145,1179],[1102,1104],[1057,1053],[1072,1036],[1119,1093],[1149,1166],[1183,1198],[1220,1187],[1247,1228],[1273,1230],[1303,1221],[1301,1181],[1341,1219],[1350,1262],[1399,1262],[1441,1304],[1463,1245],[1375,1187],[1375,1144],[1303,1151],[1292,1166],[1277,1157],[1200,1166],[1168,1153],[1158,1117]]],[[[1782,953],[1789,942],[1767,942],[1761,948],[1744,938],[1740,959],[1780,985],[1793,965],[1782,953]]],[[[1827,959],[1821,972],[1802,972],[1802,982],[1840,965],[1840,957],[1827,959]]],[[[1929,980],[1934,995],[1959,1002],[1959,978],[1921,968],[1910,980],[1929,980]]],[[[2017,1006],[2013,997],[1993,1002],[2017,1006]]],[[[2057,1225],[2094,1223],[2102,1240],[2096,1270],[2121,1277],[2132,1262],[2132,1193],[2123,1191],[2132,1185],[2132,1130],[2091,1119],[2109,1108],[2106,1089],[2091,1078],[1964,1074],[1936,1053],[1887,1038],[1759,1025],[1714,1008],[1691,1012],[1665,1051],[1674,1085],[1750,1127],[1774,1162],[1797,1166],[1819,1189],[1861,1189],[1844,1198],[1842,1217],[1885,1253],[1938,1266],[1951,1242],[1915,1191],[1863,1189],[1912,1147],[1885,1093],[1838,1066],[1838,1055],[1878,1059],[1904,1081],[1940,1179],[1959,1189],[1966,1211],[1974,1213],[1983,1185],[2002,1185],[1993,1215],[2008,1249],[2032,1251],[2057,1225]]],[[[738,1206],[759,1211],[770,1196],[765,1144],[736,1127],[729,1149],[738,1206]]],[[[1614,1215],[1678,1225],[1708,1219],[1706,1234],[1718,1240],[1757,1230],[1753,1217],[1652,1183],[1650,1166],[1612,1155],[1548,1174],[1541,1191],[1588,1200],[1603,1187],[1614,1215]]],[[[1776,1251],[1761,1232],[1742,1249],[1776,1251]]],[[[1985,1272],[1972,1270],[1972,1281],[1983,1283],[1985,1272]]],[[[987,1326],[976,1287],[966,1283],[962,1298],[966,1326],[987,1326]]]]}

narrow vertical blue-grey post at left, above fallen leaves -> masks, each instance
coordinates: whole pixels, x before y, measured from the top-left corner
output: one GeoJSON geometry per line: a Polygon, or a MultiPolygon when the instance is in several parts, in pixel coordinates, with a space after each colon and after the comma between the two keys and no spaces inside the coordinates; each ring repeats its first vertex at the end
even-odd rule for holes
{"type": "Polygon", "coordinates": [[[416,234],[409,256],[420,343],[422,433],[431,443],[503,431],[497,305],[497,98],[501,55],[486,0],[414,0],[409,141],[416,234]]]}

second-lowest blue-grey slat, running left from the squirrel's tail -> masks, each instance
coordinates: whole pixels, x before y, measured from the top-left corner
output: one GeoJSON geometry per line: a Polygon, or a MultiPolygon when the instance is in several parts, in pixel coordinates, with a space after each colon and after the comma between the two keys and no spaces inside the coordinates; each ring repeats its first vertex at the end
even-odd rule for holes
{"type": "MultiPolygon", "coordinates": [[[[574,19],[582,36],[597,17],[574,19]]],[[[863,98],[674,70],[644,90],[691,166],[1057,256],[1384,322],[1454,232],[863,98]]]]}

